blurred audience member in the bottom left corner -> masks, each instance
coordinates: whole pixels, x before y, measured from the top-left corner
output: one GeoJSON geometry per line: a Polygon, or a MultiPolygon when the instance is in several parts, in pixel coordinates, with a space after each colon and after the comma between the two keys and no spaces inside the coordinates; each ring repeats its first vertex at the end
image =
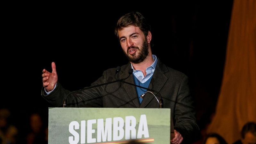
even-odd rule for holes
{"type": "Polygon", "coordinates": [[[10,124],[11,112],[9,109],[0,109],[0,144],[16,144],[18,129],[10,124]]]}

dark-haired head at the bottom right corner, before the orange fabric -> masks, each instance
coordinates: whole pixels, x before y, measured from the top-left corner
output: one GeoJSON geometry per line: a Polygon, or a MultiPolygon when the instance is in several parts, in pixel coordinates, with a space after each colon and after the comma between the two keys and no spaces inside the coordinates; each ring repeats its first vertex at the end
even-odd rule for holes
{"type": "Polygon", "coordinates": [[[256,144],[256,123],[248,122],[244,124],[241,131],[241,142],[243,144],[256,144]]]}

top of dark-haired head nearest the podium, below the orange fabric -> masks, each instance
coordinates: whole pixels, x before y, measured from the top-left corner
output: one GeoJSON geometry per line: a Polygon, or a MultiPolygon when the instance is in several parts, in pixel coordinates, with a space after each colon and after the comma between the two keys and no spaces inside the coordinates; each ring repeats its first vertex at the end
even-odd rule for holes
{"type": "Polygon", "coordinates": [[[218,133],[209,133],[204,139],[203,144],[228,144],[218,133]]]}

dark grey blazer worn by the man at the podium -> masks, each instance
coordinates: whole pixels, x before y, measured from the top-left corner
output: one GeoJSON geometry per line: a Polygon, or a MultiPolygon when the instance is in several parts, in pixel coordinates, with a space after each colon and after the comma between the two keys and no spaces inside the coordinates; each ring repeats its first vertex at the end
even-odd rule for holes
{"type": "MultiPolygon", "coordinates": [[[[121,66],[116,78],[123,79],[128,77],[130,69],[130,62],[121,66]]],[[[115,81],[115,73],[116,68],[105,70],[102,76],[93,82],[91,86],[115,81]]],[[[124,81],[135,84],[132,75],[124,81]]],[[[190,94],[188,77],[177,70],[165,66],[158,58],[148,89],[161,94],[164,102],[163,108],[171,108],[174,129],[182,135],[182,144],[194,142],[199,134],[199,127],[196,122],[194,97],[190,94]]],[[[41,95],[54,107],[62,107],[63,101],[69,92],[57,82],[54,91],[46,96],[43,87],[41,95]]],[[[153,93],[160,99],[159,94],[153,93]]],[[[140,104],[135,86],[116,82],[71,93],[67,98],[67,107],[159,108],[159,103],[154,95],[148,92],[140,104]]]]}

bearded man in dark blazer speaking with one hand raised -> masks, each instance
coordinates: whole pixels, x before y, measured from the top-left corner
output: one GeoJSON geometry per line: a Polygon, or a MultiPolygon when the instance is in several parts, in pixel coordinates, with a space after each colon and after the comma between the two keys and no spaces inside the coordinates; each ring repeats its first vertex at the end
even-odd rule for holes
{"type": "MultiPolygon", "coordinates": [[[[192,143],[199,128],[196,123],[196,111],[193,97],[189,92],[188,77],[183,73],[166,67],[151,52],[151,27],[139,12],[130,12],[122,16],[116,24],[115,34],[129,63],[103,72],[91,86],[125,79],[125,82],[152,89],[161,94],[164,108],[171,108],[174,123],[173,144],[192,143]],[[129,69],[133,75],[129,76],[129,69]]],[[[60,107],[70,91],[58,82],[55,63],[52,73],[43,69],[42,96],[53,106],[60,107]]],[[[142,100],[140,95],[147,90],[123,82],[111,83],[84,91],[73,92],[67,97],[68,107],[104,107],[104,108],[159,108],[152,94],[142,100]]],[[[158,93],[155,92],[155,95],[158,93]]],[[[159,97],[159,94],[157,95],[159,97]]]]}

